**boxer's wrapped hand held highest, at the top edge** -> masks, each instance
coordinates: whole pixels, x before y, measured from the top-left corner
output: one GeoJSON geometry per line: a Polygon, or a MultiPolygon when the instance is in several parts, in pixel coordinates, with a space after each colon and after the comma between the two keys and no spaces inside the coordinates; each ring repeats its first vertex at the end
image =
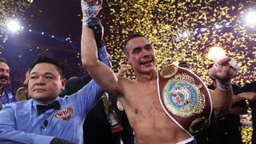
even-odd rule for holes
{"type": "Polygon", "coordinates": [[[81,7],[83,15],[82,25],[87,26],[87,22],[102,9],[102,0],[81,0],[81,7]]]}

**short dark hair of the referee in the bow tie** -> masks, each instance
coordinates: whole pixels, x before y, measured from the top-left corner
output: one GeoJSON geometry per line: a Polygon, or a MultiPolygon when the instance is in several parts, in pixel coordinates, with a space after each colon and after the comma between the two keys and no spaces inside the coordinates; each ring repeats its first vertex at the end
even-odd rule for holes
{"type": "Polygon", "coordinates": [[[54,66],[56,66],[59,74],[61,75],[61,78],[65,77],[64,66],[62,66],[62,64],[60,62],[58,62],[57,60],[55,60],[54,58],[50,58],[49,56],[46,56],[45,54],[41,54],[38,56],[38,58],[35,59],[32,66],[30,66],[30,69],[29,69],[30,72],[34,68],[35,65],[37,65],[38,63],[43,63],[43,62],[50,63],[50,64],[53,64],[54,66]]]}

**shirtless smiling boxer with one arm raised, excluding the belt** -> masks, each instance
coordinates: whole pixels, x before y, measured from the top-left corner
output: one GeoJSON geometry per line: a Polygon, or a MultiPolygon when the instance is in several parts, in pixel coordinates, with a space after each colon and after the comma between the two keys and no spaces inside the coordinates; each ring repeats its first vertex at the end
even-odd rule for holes
{"type": "MultiPolygon", "coordinates": [[[[86,21],[90,21],[88,15],[95,16],[98,11],[88,12],[86,10],[94,9],[88,6],[101,7],[102,0],[82,0],[82,64],[102,90],[117,97],[122,103],[134,129],[137,143],[196,143],[194,138],[177,126],[162,109],[158,99],[156,59],[150,42],[143,36],[131,38],[126,42],[125,61],[133,67],[137,78],[134,81],[129,78],[117,78],[108,66],[98,61],[94,32],[86,26],[86,21]]],[[[211,92],[216,114],[222,114],[230,108],[232,91],[229,81],[236,75],[236,70],[230,67],[227,63],[229,61],[230,58],[222,58],[217,63],[222,68],[210,70],[210,75],[217,78],[219,86],[222,86],[222,89],[217,87],[211,92]]]]}

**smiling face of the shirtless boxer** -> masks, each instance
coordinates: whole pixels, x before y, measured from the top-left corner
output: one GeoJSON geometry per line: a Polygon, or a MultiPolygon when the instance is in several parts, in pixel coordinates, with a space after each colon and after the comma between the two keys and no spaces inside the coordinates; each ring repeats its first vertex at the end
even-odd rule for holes
{"type": "Polygon", "coordinates": [[[127,50],[126,63],[133,66],[135,72],[144,74],[156,69],[154,49],[146,38],[130,39],[127,50]]]}

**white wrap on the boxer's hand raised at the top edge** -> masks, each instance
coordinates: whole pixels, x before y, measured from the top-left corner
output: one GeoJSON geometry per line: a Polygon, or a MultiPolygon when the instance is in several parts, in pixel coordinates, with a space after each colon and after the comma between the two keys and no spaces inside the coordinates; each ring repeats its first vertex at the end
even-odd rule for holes
{"type": "Polygon", "coordinates": [[[81,0],[82,7],[82,26],[87,26],[90,19],[98,14],[98,12],[102,9],[102,6],[98,6],[95,4],[88,4],[84,0],[81,0]]]}

